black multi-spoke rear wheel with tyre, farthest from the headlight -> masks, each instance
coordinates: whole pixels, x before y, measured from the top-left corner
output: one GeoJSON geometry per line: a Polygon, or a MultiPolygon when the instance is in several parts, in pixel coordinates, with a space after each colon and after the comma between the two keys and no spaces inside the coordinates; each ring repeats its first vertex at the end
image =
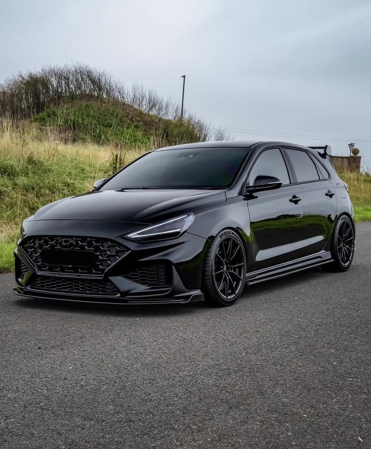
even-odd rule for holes
{"type": "Polygon", "coordinates": [[[331,238],[330,252],[333,262],[322,265],[327,272],[347,271],[352,264],[355,249],[355,232],[348,215],[340,215],[331,238]]]}

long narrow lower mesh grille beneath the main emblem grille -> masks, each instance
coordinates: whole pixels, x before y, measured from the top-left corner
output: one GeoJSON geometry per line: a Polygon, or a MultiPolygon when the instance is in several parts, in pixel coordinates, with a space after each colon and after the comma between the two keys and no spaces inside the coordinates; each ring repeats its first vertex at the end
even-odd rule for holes
{"type": "Polygon", "coordinates": [[[80,293],[93,295],[116,295],[115,285],[109,280],[76,279],[54,276],[34,276],[28,288],[49,292],[80,293]]]}

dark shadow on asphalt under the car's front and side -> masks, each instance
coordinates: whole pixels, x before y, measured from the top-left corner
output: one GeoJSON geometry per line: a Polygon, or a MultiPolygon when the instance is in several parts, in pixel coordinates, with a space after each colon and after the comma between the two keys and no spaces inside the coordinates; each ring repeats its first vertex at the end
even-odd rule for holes
{"type": "MultiPolygon", "coordinates": [[[[321,277],[331,274],[324,273],[320,268],[312,268],[299,273],[294,273],[289,276],[272,279],[254,285],[245,287],[240,302],[249,306],[249,302],[259,301],[262,295],[269,295],[274,291],[289,286],[294,286],[308,282],[315,278],[323,281],[321,277]]],[[[272,298],[274,301],[274,298],[272,298]]],[[[93,303],[78,303],[73,301],[58,301],[58,300],[39,300],[34,298],[25,298],[17,300],[16,304],[19,307],[26,309],[38,309],[57,311],[61,313],[81,313],[81,314],[101,314],[111,316],[132,316],[132,317],[163,317],[163,316],[179,316],[188,313],[208,313],[210,306],[205,302],[191,303],[191,304],[173,304],[173,305],[111,305],[111,304],[93,304],[93,303]]],[[[214,309],[218,310],[218,309],[214,309]]],[[[220,309],[219,309],[220,310],[220,309]]]]}

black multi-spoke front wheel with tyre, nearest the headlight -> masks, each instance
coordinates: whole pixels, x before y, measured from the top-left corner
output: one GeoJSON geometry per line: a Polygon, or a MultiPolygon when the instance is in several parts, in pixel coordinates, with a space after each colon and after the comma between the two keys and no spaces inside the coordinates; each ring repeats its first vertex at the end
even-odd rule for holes
{"type": "Polygon", "coordinates": [[[246,252],[239,235],[221,231],[205,258],[202,292],[207,304],[226,307],[234,304],[245,285],[246,252]]]}

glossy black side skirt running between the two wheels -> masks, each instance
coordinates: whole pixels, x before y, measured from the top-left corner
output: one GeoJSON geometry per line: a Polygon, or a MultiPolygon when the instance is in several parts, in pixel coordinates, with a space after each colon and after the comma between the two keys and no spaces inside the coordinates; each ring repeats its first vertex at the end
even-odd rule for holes
{"type": "Polygon", "coordinates": [[[246,274],[246,284],[252,285],[269,279],[275,279],[288,274],[297,273],[298,271],[313,268],[319,265],[332,262],[330,251],[322,251],[312,256],[296,259],[291,262],[285,262],[273,267],[264,268],[263,270],[252,271],[246,274]]]}

